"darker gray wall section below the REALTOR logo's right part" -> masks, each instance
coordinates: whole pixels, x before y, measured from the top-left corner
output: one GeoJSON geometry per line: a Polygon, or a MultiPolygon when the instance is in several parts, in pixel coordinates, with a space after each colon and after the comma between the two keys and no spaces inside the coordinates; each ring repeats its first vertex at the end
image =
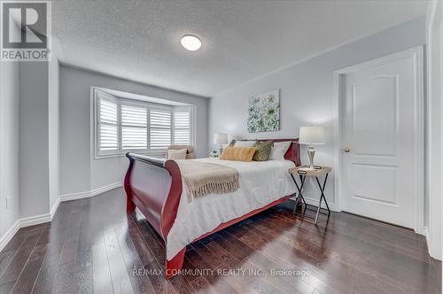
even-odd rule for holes
{"type": "Polygon", "coordinates": [[[48,63],[20,62],[20,218],[50,212],[48,124],[48,63]]]}

